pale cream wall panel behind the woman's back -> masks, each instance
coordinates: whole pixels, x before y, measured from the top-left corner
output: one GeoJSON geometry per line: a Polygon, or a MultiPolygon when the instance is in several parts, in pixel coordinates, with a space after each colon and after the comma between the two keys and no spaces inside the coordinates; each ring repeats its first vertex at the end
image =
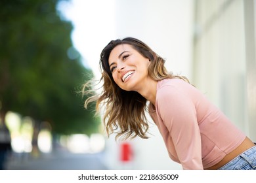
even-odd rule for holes
{"type": "Polygon", "coordinates": [[[194,84],[249,136],[244,1],[195,3],[194,84]]]}

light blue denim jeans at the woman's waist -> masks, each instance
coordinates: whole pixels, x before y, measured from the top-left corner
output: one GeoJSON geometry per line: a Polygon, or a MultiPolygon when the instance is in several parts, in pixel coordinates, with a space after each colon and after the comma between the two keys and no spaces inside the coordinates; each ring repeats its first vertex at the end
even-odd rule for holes
{"type": "Polygon", "coordinates": [[[232,159],[219,170],[256,170],[256,146],[232,159]]]}

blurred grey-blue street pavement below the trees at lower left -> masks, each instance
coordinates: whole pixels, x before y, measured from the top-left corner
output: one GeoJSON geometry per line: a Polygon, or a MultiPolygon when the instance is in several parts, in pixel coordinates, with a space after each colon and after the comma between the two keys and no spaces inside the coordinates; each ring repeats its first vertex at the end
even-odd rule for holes
{"type": "Polygon", "coordinates": [[[73,154],[55,150],[50,154],[33,157],[32,154],[11,154],[5,168],[9,170],[98,170],[107,169],[102,163],[103,153],[73,154]]]}

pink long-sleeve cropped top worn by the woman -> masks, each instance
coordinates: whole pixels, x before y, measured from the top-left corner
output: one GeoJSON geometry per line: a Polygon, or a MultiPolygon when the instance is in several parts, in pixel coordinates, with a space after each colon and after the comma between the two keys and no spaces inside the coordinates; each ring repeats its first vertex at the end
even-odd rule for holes
{"type": "Polygon", "coordinates": [[[244,140],[219,108],[181,79],[158,82],[150,116],[158,126],[169,157],[182,169],[205,169],[221,161],[244,140]]]}

